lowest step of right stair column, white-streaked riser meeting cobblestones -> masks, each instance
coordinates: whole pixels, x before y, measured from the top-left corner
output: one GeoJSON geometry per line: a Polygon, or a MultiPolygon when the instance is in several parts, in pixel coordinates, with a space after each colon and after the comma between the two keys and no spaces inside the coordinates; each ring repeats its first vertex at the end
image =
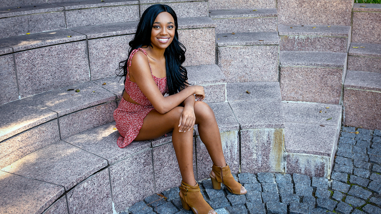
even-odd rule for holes
{"type": "Polygon", "coordinates": [[[330,178],[342,106],[282,101],[285,116],[286,173],[330,178]]]}

